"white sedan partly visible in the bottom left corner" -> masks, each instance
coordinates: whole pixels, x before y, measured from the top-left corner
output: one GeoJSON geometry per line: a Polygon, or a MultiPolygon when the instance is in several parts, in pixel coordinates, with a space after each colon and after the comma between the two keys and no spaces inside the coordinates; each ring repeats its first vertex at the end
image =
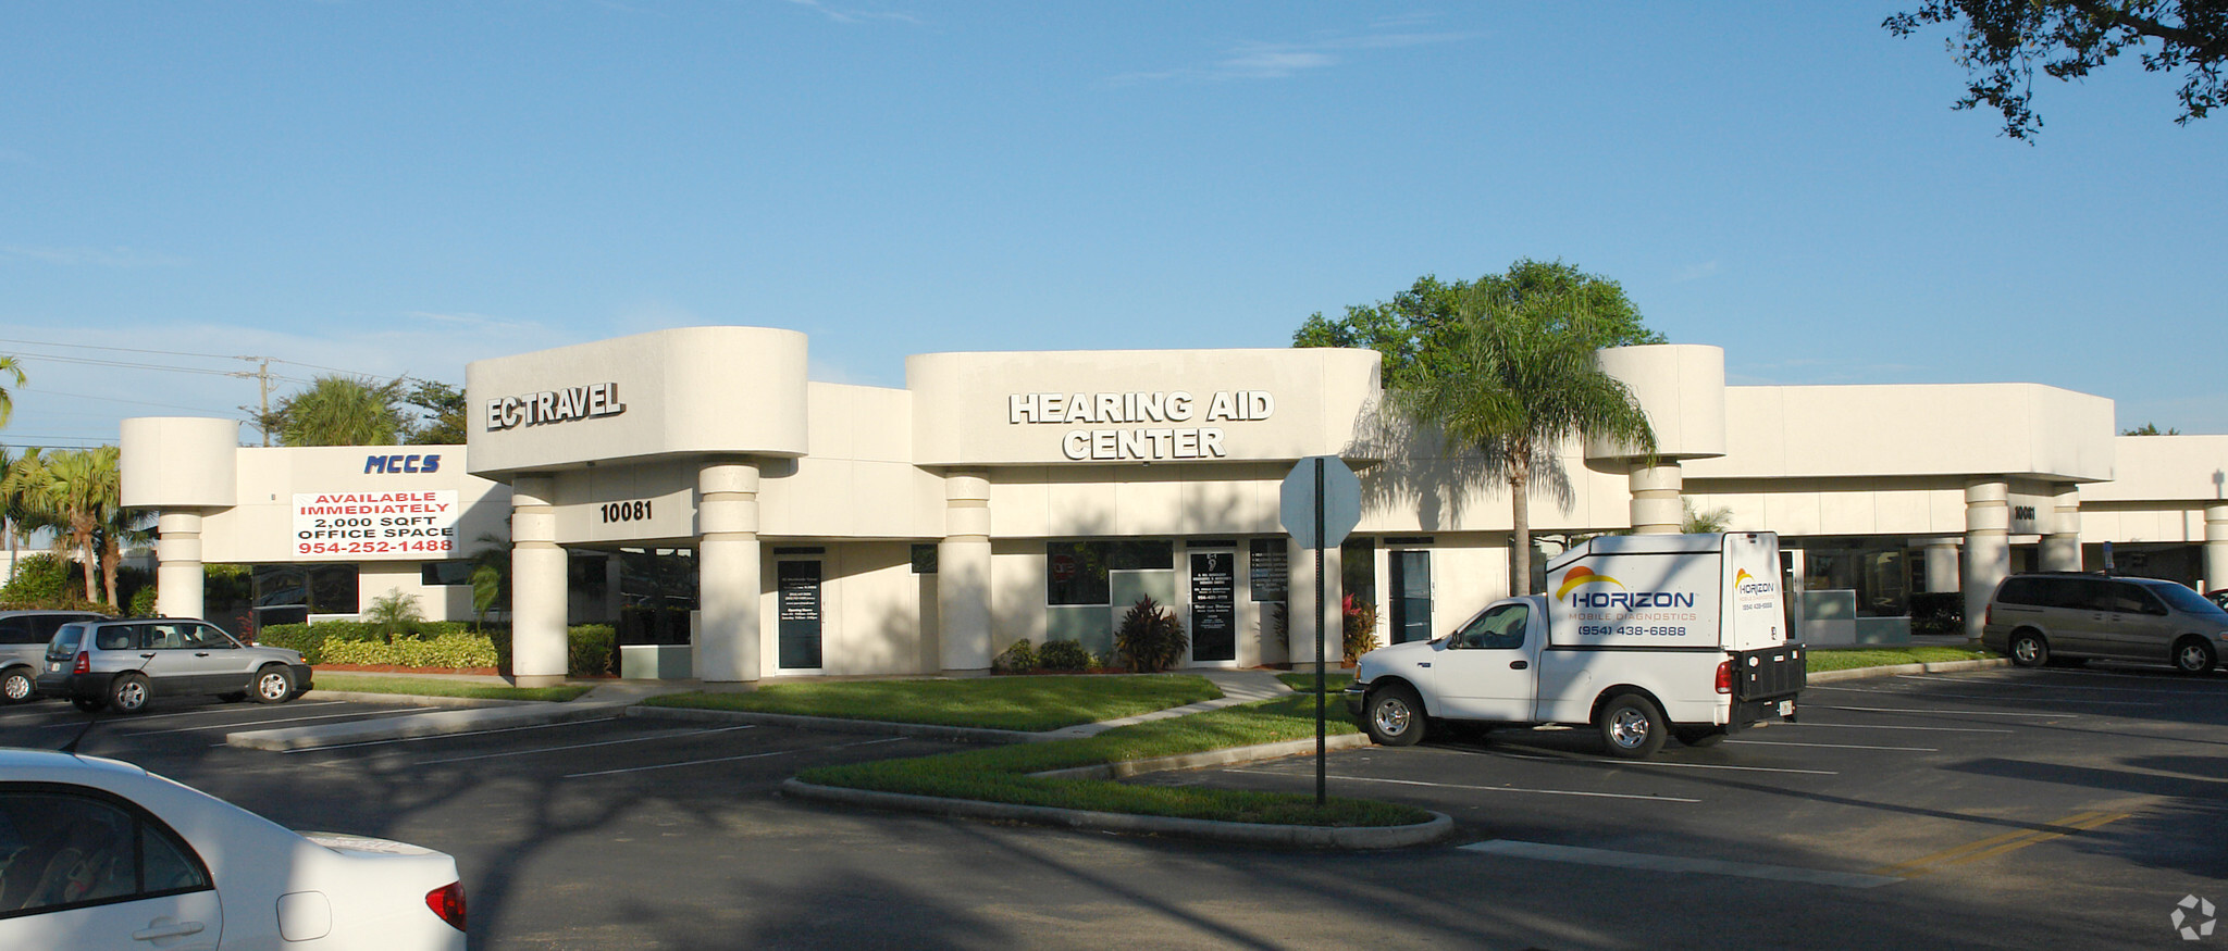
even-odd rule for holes
{"type": "Polygon", "coordinates": [[[457,860],[0,748],[0,949],[463,949],[457,860]]]}

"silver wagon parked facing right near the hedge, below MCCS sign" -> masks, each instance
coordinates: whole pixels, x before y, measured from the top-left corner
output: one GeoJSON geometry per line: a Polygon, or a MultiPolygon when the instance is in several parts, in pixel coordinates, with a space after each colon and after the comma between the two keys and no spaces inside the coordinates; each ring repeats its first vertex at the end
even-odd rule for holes
{"type": "Polygon", "coordinates": [[[154,697],[196,693],[283,704],[310,686],[301,653],[250,648],[189,617],[65,624],[47,641],[38,673],[42,697],[69,697],[87,713],[138,713],[154,697]]]}

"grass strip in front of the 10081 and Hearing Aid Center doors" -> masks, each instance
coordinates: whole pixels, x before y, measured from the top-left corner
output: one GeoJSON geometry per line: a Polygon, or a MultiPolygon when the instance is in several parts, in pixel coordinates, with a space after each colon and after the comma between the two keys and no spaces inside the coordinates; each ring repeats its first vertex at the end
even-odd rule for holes
{"type": "Polygon", "coordinates": [[[644,704],[1040,733],[1221,695],[1214,682],[1194,675],[1089,675],[766,684],[751,693],[677,693],[644,704]]]}

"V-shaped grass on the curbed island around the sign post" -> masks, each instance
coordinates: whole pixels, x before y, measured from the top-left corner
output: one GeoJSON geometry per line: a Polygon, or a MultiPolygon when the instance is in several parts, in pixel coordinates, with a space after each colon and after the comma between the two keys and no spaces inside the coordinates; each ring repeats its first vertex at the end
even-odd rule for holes
{"type": "MultiPolygon", "coordinates": [[[[1346,717],[1343,708],[1330,710],[1326,728],[1335,735],[1355,733],[1355,724],[1346,717]]],[[[1288,826],[1406,826],[1430,820],[1430,813],[1421,808],[1388,802],[1332,797],[1328,804],[1317,806],[1312,793],[1132,786],[1101,780],[1045,780],[1029,775],[1308,737],[1315,737],[1315,697],[1294,695],[1194,713],[1190,717],[1121,726],[1089,739],[820,766],[798,773],[798,780],[820,786],[949,800],[1288,826]]]]}

